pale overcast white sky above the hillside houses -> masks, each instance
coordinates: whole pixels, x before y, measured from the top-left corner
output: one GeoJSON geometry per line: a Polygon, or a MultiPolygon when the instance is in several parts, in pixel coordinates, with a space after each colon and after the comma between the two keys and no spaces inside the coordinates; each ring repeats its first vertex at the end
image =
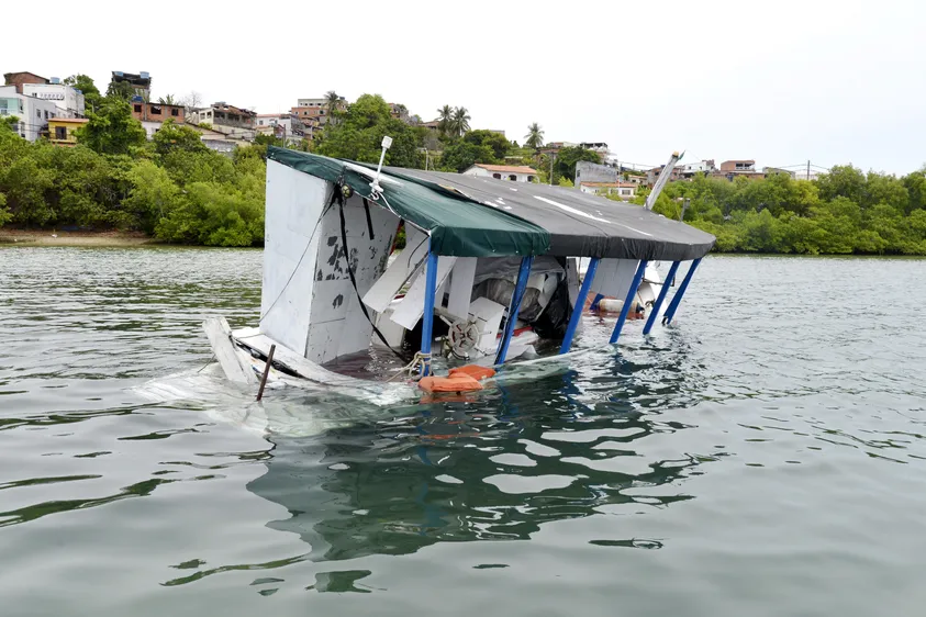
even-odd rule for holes
{"type": "Polygon", "coordinates": [[[424,120],[466,106],[473,128],[518,143],[537,122],[548,142],[606,142],[647,166],[673,150],[760,168],[926,164],[923,0],[46,0],[43,12],[67,15],[67,44],[41,21],[4,25],[0,72],[83,72],[105,90],[112,70],[146,70],[153,98],[197,91],[258,113],[379,93],[424,120]]]}

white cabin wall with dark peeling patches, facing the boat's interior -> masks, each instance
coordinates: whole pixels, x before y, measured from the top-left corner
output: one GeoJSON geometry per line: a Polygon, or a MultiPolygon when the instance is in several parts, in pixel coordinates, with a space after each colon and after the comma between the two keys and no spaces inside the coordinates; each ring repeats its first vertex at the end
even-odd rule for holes
{"type": "MultiPolygon", "coordinates": [[[[399,227],[399,217],[370,202],[370,238],[364,201],[353,197],[345,202],[344,218],[350,268],[357,290],[364,295],[386,270],[389,251],[399,227]]],[[[325,363],[341,356],[366,351],[372,325],[360,308],[357,291],[350,282],[341,234],[341,209],[335,205],[322,217],[319,254],[315,260],[311,315],[305,358],[325,363]]],[[[369,311],[370,317],[375,313],[369,311]]]]}

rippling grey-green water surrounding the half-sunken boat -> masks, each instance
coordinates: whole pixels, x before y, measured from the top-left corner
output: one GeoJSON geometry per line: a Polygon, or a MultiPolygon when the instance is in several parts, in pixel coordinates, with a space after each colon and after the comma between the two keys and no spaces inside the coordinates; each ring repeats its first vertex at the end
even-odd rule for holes
{"type": "Polygon", "coordinates": [[[0,614],[923,614],[926,261],[710,257],[618,354],[439,405],[275,391],[269,436],[133,390],[259,288],[259,251],[0,248],[0,614]]]}

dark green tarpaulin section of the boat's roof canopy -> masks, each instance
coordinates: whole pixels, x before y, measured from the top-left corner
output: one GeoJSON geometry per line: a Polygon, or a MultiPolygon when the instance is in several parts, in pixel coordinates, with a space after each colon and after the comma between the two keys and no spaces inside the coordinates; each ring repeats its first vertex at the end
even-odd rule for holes
{"type": "MultiPolygon", "coordinates": [[[[352,164],[298,150],[269,147],[267,158],[334,183],[344,183],[364,197],[370,194],[370,171],[352,164]]],[[[434,190],[420,180],[383,171],[378,205],[431,234],[431,249],[456,257],[544,255],[550,234],[543,227],[490,207],[450,190],[434,190]]]]}

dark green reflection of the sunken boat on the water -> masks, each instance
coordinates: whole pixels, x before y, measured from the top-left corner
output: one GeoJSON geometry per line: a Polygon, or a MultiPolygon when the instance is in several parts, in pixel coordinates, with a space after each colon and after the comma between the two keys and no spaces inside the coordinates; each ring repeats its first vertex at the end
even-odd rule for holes
{"type": "Polygon", "coordinates": [[[684,397],[681,380],[652,379],[673,372],[684,355],[671,358],[658,369],[628,369],[612,357],[598,370],[620,373],[622,385],[612,381],[596,404],[583,402],[594,375],[568,371],[471,401],[393,408],[389,419],[314,437],[271,436],[267,473],[248,490],[287,508],[289,517],[269,526],[298,534],[312,561],[405,554],[442,541],[523,540],[553,520],[668,507],[692,496],[649,489],[716,460],[654,458],[643,447],[689,428],[661,422],[658,410],[628,408],[684,397]]]}

